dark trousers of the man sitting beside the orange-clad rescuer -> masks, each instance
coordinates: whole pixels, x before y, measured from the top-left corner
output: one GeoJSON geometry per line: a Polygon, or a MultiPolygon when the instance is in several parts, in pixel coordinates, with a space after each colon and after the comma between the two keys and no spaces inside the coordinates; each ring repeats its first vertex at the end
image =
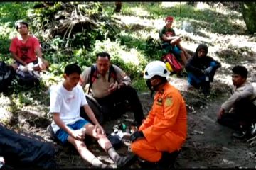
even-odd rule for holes
{"type": "Polygon", "coordinates": [[[132,86],[124,86],[117,89],[109,96],[95,99],[100,106],[102,106],[102,113],[105,120],[118,118],[119,115],[125,113],[125,101],[128,101],[127,104],[134,113],[134,119],[137,121],[138,125],[142,124],[142,120],[144,119],[142,103],[139,101],[137,91],[132,88],[132,86]]]}

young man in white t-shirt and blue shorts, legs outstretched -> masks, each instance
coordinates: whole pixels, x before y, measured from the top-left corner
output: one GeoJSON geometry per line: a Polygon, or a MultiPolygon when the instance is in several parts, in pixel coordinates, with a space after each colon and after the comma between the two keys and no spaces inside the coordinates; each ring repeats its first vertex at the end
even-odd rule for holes
{"type": "Polygon", "coordinates": [[[83,142],[86,135],[90,135],[97,140],[100,147],[117,164],[117,167],[132,164],[136,157],[134,155],[126,157],[119,156],[107,139],[105,131],[98,123],[90,106],[87,104],[84,91],[78,84],[81,72],[77,64],[68,64],[65,67],[65,73],[63,75],[65,80],[63,83],[53,86],[50,89],[50,113],[53,114],[51,126],[55,137],[63,144],[68,141],[74,145],[82,159],[90,162],[93,166],[111,168],[110,165],[102,163],[87,149],[85,142],[83,142]],[[81,106],[94,125],[80,117],[81,106]],[[85,128],[85,132],[82,132],[81,128],[85,128]]]}

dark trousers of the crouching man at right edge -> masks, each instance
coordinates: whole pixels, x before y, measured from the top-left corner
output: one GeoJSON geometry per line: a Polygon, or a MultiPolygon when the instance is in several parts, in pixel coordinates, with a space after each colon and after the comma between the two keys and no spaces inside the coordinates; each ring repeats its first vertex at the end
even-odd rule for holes
{"type": "Polygon", "coordinates": [[[252,123],[256,123],[256,106],[247,98],[235,102],[232,113],[225,113],[218,119],[218,123],[235,130],[247,130],[252,123]]]}

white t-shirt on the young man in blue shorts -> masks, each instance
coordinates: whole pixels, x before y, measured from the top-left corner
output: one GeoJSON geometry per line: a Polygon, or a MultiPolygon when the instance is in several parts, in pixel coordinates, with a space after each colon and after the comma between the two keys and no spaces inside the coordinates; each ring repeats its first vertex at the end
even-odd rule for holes
{"type": "MultiPolygon", "coordinates": [[[[60,113],[60,120],[65,125],[73,124],[83,119],[80,117],[80,107],[86,104],[87,101],[84,91],[79,84],[72,91],[65,89],[63,84],[50,87],[50,113],[60,113]]],[[[54,133],[60,129],[54,120],[51,126],[53,127],[54,133]]]]}

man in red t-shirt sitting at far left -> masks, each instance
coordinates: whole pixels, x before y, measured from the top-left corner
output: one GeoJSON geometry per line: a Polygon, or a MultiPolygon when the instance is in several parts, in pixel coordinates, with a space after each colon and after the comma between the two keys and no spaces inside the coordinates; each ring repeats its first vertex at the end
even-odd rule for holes
{"type": "Polygon", "coordinates": [[[29,33],[28,23],[18,20],[15,23],[18,36],[11,40],[9,51],[16,61],[16,67],[21,65],[22,70],[42,71],[49,67],[49,62],[44,60],[41,45],[35,35],[29,33]]]}

